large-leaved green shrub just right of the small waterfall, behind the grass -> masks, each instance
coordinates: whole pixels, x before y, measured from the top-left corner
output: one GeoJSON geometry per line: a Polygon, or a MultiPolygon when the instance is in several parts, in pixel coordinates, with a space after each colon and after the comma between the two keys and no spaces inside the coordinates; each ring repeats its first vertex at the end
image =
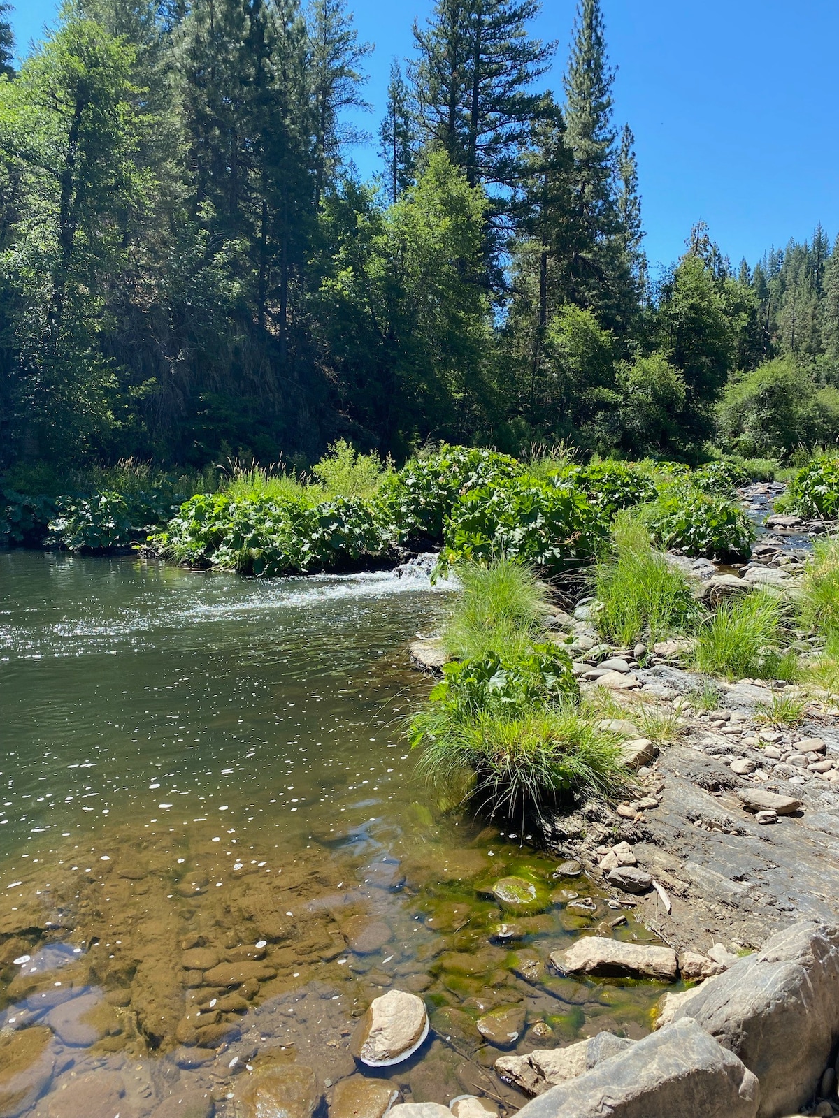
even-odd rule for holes
{"type": "Polygon", "coordinates": [[[590,561],[607,534],[605,519],[579,490],[512,477],[459,498],[443,563],[506,555],[550,575],[590,561]]]}

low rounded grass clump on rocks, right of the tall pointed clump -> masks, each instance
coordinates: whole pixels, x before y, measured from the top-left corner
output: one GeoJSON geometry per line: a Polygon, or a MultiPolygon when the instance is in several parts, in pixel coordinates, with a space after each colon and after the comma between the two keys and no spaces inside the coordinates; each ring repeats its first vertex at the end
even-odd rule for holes
{"type": "Polygon", "coordinates": [[[696,666],[728,680],[798,678],[798,656],[782,651],[782,604],[770,590],[723,601],[698,627],[696,666]]]}

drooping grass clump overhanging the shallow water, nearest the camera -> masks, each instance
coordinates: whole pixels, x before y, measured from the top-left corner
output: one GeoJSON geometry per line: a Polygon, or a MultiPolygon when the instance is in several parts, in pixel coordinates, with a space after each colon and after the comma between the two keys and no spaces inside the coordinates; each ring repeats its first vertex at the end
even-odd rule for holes
{"type": "Polygon", "coordinates": [[[573,793],[614,794],[626,779],[618,738],[571,703],[512,718],[486,710],[463,721],[442,717],[426,711],[418,768],[444,786],[474,773],[471,795],[491,816],[532,811],[541,817],[573,793]]]}

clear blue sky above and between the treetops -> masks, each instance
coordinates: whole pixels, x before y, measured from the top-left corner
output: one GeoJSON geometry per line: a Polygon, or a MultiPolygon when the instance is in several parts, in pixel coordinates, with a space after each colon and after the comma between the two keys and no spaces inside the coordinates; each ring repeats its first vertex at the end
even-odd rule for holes
{"type": "MultiPolygon", "coordinates": [[[[23,53],[54,0],[17,0],[23,53]]],[[[375,42],[365,119],[375,132],[394,56],[411,51],[411,25],[432,4],[349,0],[360,36],[375,42]]],[[[545,83],[558,93],[574,0],[547,0],[535,28],[558,40],[545,83]]],[[[736,264],[758,258],[821,221],[839,229],[836,0],[603,0],[619,67],[616,122],[637,140],[645,248],[653,267],[675,259],[701,218],[736,264]]],[[[375,144],[356,152],[362,173],[375,144]]]]}

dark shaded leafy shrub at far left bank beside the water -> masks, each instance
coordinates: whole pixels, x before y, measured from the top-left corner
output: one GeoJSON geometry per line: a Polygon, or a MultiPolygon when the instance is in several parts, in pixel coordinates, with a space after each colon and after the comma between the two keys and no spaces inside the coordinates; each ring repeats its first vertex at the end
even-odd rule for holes
{"type": "Polygon", "coordinates": [[[50,542],[69,551],[109,551],[144,541],[178,508],[170,491],[59,498],[49,523],[50,542]]]}

